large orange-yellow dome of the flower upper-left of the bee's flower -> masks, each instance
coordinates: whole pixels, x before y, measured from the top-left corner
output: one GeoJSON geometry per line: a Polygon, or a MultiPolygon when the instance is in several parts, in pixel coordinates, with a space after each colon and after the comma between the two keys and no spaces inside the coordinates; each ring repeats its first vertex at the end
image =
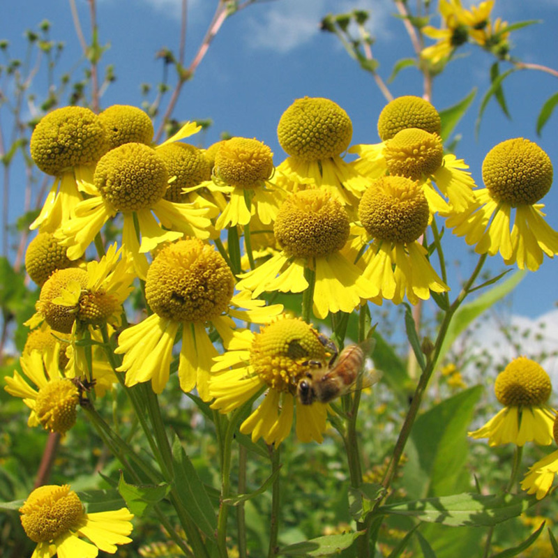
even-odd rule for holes
{"type": "Polygon", "coordinates": [[[221,315],[234,292],[227,262],[211,246],[188,239],[163,248],[147,272],[147,303],[173,322],[206,322],[221,315]]]}

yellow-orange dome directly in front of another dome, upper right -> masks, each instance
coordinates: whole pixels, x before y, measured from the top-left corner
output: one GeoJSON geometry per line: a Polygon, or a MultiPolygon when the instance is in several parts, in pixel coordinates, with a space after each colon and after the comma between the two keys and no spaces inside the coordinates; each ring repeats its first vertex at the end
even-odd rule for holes
{"type": "Polygon", "coordinates": [[[384,156],[391,174],[423,179],[442,165],[442,138],[425,130],[407,128],[386,142],[384,156]]]}

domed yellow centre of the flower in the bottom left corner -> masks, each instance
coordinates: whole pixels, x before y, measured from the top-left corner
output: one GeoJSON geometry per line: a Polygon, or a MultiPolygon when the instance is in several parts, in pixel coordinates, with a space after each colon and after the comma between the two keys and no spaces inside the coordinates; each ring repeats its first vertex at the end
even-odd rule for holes
{"type": "Polygon", "coordinates": [[[69,485],[45,485],[31,492],[20,513],[23,529],[31,541],[48,543],[79,527],[84,509],[69,485]]]}

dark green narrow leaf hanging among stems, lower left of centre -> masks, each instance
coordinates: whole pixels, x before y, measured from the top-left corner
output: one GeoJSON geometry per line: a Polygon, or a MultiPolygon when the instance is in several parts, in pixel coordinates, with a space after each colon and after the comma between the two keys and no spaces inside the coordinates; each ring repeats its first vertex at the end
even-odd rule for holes
{"type": "Polygon", "coordinates": [[[176,435],[172,442],[172,471],[174,486],[186,513],[197,528],[213,540],[217,528],[215,511],[202,481],[199,480],[192,462],[188,459],[176,435]]]}

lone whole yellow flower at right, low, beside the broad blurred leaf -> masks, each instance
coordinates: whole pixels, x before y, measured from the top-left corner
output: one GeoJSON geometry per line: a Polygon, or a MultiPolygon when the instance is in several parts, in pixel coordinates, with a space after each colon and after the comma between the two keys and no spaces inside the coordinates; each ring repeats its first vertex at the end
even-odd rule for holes
{"type": "Polygon", "coordinates": [[[514,359],[497,376],[494,390],[504,409],[469,436],[488,438],[490,446],[552,443],[556,411],[547,405],[552,384],[541,365],[525,356],[514,359]]]}

